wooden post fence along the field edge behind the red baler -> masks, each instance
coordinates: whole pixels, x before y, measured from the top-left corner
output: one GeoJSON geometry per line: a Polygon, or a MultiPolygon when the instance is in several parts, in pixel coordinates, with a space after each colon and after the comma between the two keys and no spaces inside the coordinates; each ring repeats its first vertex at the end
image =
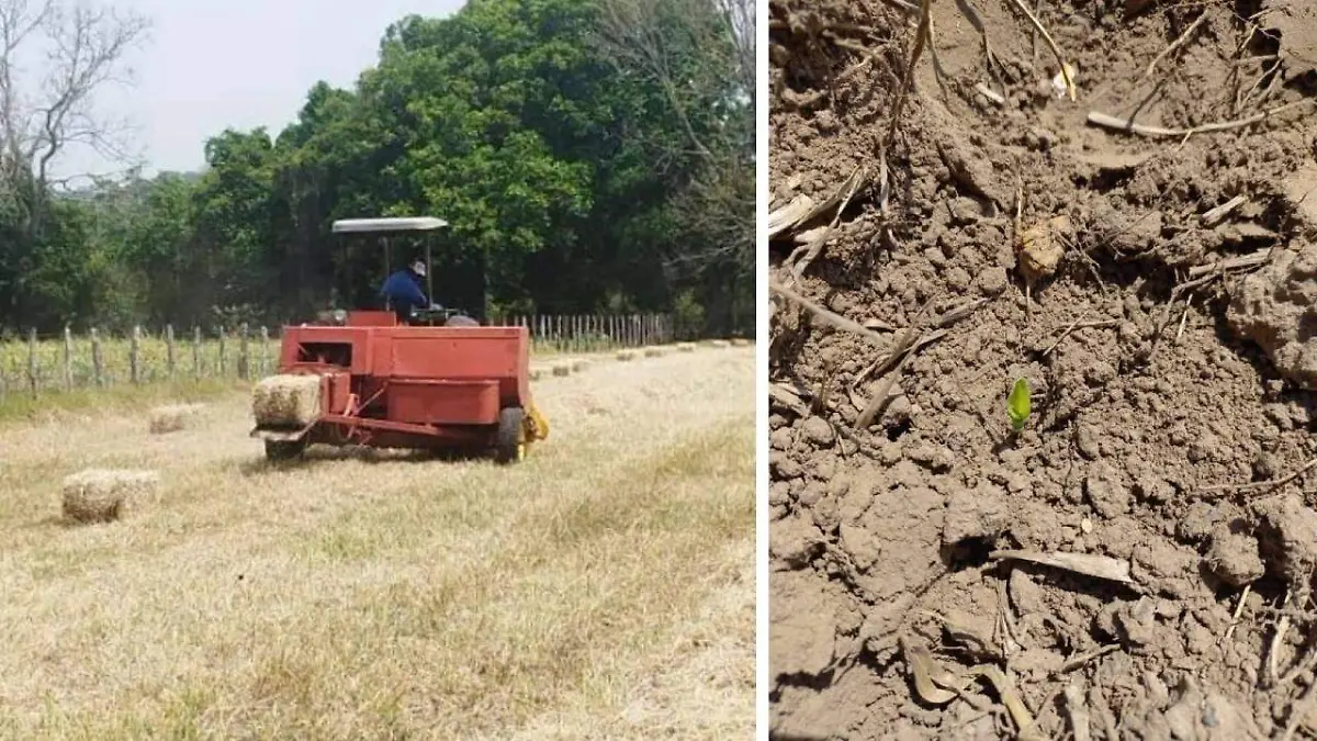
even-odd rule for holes
{"type": "MultiPolygon", "coordinates": [[[[533,355],[602,352],[673,341],[672,316],[536,315],[498,316],[490,326],[527,327],[533,355]]],[[[248,381],[279,365],[278,328],[213,327],[176,332],[134,327],[125,335],[92,328],[55,336],[32,330],[26,339],[0,341],[0,403],[11,394],[41,396],[74,389],[188,380],[248,381]]]]}

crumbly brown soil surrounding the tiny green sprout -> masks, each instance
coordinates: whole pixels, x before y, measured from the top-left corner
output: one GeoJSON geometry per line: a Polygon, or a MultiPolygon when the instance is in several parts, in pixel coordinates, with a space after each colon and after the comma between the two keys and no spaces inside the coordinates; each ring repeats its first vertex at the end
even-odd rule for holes
{"type": "Polygon", "coordinates": [[[786,392],[770,414],[774,738],[1017,736],[986,680],[919,699],[921,643],[934,668],[1002,670],[1051,738],[1312,733],[1300,699],[1317,662],[1317,467],[1291,475],[1317,459],[1314,11],[1130,5],[1146,7],[1040,4],[1076,70],[1072,103],[1006,0],[934,3],[935,54],[889,149],[884,215],[878,150],[914,16],[890,0],[769,4],[770,208],[822,200],[857,166],[869,177],[798,278],[784,261],[835,210],[778,235],[770,269],[878,335],[773,301],[770,374],[786,392]],[[1138,109],[1139,124],[1188,128],[1296,102],[1188,138],[1085,123],[1138,109]],[[1031,310],[1017,189],[1026,227],[1071,223],[1031,310]],[[1267,248],[1191,283],[1195,266],[1267,248]],[[976,299],[855,430],[888,381],[857,377],[911,322],[931,330],[976,299]],[[1067,335],[1076,322],[1093,326],[1067,335]],[[1010,435],[1021,376],[1033,415],[1010,435]],[[1001,550],[1105,556],[1130,578],[990,556],[1001,550]]]}

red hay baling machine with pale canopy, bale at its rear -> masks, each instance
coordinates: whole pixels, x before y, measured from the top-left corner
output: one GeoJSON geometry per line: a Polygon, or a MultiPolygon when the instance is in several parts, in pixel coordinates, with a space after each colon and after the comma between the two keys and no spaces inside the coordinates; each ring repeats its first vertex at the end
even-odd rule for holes
{"type": "MultiPolygon", "coordinates": [[[[333,231],[427,233],[445,225],[433,218],[349,219],[333,231]]],[[[432,276],[428,243],[425,266],[432,276]]],[[[265,440],[266,458],[296,458],[319,443],[493,451],[512,463],[548,436],[531,398],[528,328],[485,327],[444,309],[406,319],[392,310],[353,310],[328,324],[284,327],[279,373],[252,397],[252,436],[265,440]]]]}

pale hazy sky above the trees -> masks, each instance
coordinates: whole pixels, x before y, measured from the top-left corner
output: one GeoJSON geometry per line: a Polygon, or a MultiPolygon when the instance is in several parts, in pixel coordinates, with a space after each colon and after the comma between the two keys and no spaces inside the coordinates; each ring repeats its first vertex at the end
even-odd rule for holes
{"type": "MultiPolygon", "coordinates": [[[[65,0],[68,3],[70,0],[65,0]]],[[[136,9],[150,34],[128,62],[134,86],[107,88],[97,108],[126,120],[153,170],[195,170],[207,137],[225,127],[291,123],[324,79],[352,87],[378,59],[389,24],[407,15],[448,16],[464,0],[100,0],[136,9]]],[[[70,150],[61,174],[121,169],[70,150]]]]}

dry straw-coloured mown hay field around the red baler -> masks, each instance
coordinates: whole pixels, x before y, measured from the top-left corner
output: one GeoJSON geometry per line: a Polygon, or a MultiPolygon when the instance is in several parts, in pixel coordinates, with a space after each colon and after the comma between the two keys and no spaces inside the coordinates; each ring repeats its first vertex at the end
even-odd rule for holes
{"type": "Polygon", "coordinates": [[[0,427],[3,738],[727,738],[753,729],[753,351],[533,385],[514,467],[312,448],[233,394],[0,427]],[[155,471],[116,522],[61,483],[155,471]]]}

